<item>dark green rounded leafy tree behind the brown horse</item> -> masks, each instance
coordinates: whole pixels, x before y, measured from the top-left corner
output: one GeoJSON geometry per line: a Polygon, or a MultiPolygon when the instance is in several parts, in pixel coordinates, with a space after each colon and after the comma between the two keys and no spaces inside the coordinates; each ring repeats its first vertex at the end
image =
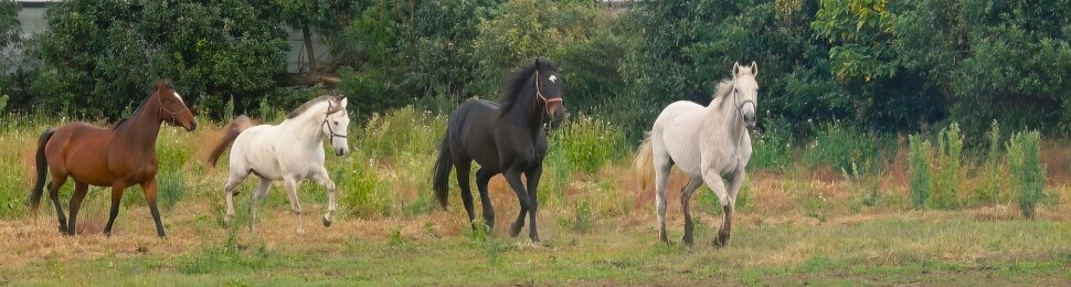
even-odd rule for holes
{"type": "Polygon", "coordinates": [[[286,43],[278,18],[257,1],[63,1],[46,12],[47,32],[34,105],[120,117],[156,77],[170,78],[188,102],[213,114],[238,109],[276,87],[286,43]]]}

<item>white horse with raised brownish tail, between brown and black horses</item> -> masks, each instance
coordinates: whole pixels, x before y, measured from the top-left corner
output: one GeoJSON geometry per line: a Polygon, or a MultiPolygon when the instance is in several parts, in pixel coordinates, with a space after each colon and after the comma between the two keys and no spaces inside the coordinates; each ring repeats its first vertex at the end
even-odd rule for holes
{"type": "Polygon", "coordinates": [[[253,194],[253,204],[250,205],[253,222],[256,222],[256,205],[264,200],[272,181],[282,180],[290,199],[290,208],[297,216],[297,233],[305,233],[301,227],[301,203],[298,202],[297,187],[301,180],[311,179],[327,189],[328,203],[324,226],[330,226],[336,209],[336,192],[335,182],[324,168],[322,141],[330,140],[337,156],[348,153],[350,148],[346,135],[349,125],[346,98],[333,96],[320,96],[305,103],[286,115],[286,119],[277,126],[251,127],[248,117],[236,118],[209,156],[210,164],[215,166],[220,156],[231,147],[231,176],[223,188],[226,194],[224,222],[230,224],[234,217],[233,196],[237,194],[235,188],[253,173],[261,178],[261,185],[253,194]]]}

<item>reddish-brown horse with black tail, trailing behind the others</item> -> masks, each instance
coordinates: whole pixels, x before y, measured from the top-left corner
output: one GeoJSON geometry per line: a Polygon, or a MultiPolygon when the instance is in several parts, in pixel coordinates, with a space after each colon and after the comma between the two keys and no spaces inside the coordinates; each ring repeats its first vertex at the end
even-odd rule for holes
{"type": "Polygon", "coordinates": [[[71,123],[41,134],[38,144],[38,180],[30,195],[30,210],[36,212],[44,189],[45,169],[52,171],[50,196],[56,208],[60,232],[74,235],[78,208],[85,199],[89,184],[112,187],[112,212],[105,235],[112,235],[112,223],[119,214],[123,190],[134,184],[145,191],[149,211],[156,222],[160,237],[163,224],[160,211],[156,208],[156,139],[161,123],[181,126],[188,131],[197,128],[193,114],[182,102],[182,97],[165,81],[156,83],[156,93],[149,95],[134,116],[121,119],[110,129],[98,128],[86,123],[71,123]],[[74,195],[71,198],[71,223],[67,224],[60,206],[60,187],[74,178],[74,195]]]}

